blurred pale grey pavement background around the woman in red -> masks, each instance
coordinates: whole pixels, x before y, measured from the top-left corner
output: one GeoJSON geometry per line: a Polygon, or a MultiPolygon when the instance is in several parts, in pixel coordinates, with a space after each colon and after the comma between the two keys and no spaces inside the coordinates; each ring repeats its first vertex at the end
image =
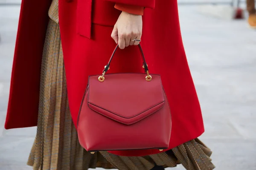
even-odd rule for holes
{"type": "MultiPolygon", "coordinates": [[[[36,127],[3,127],[20,1],[0,0],[0,170],[32,170],[26,161],[36,127]]],[[[206,132],[200,139],[212,149],[216,170],[256,170],[256,29],[248,26],[246,2],[178,0],[178,4],[204,117],[206,132]]],[[[172,168],[176,169],[184,168],[172,168]]]]}

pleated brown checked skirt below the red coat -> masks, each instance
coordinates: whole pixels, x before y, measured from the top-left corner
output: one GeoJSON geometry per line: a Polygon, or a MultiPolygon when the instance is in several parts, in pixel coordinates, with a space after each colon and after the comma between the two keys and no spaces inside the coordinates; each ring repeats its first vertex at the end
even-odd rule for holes
{"type": "Polygon", "coordinates": [[[79,144],[67,100],[67,85],[58,25],[58,0],[52,1],[41,65],[38,129],[29,155],[33,170],[87,170],[102,167],[150,170],[155,165],[187,170],[212,170],[211,150],[195,139],[170,151],[142,157],[116,156],[106,151],[90,154],[79,144]]]}

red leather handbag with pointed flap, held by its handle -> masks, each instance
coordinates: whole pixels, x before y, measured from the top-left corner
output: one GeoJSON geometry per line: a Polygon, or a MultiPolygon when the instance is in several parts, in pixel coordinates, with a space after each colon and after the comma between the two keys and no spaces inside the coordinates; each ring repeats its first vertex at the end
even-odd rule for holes
{"type": "Polygon", "coordinates": [[[89,76],[79,111],[79,142],[87,151],[167,149],[172,120],[160,75],[145,73],[89,76]]]}

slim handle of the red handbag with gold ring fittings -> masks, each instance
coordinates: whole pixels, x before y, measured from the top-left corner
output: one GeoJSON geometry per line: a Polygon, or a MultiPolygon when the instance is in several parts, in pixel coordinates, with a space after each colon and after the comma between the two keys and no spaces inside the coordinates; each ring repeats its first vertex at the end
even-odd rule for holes
{"type": "MultiPolygon", "coordinates": [[[[117,48],[118,48],[119,46],[118,46],[118,44],[116,45],[116,48],[114,49],[114,51],[113,51],[113,53],[112,53],[112,55],[111,55],[111,57],[110,57],[110,59],[109,59],[109,61],[108,61],[108,64],[107,65],[105,65],[105,69],[103,70],[103,73],[102,73],[102,76],[99,76],[99,78],[98,78],[98,80],[100,81],[100,82],[104,82],[104,80],[105,80],[105,74],[107,73],[107,71],[109,70],[109,66],[110,66],[110,63],[111,63],[111,61],[112,61],[112,59],[113,59],[113,56],[114,56],[114,54],[116,53],[116,50],[117,50],[117,48]]],[[[139,47],[139,49],[140,49],[140,54],[141,54],[141,57],[142,57],[142,61],[143,61],[143,68],[145,69],[145,73],[147,74],[147,76],[146,76],[146,80],[148,81],[148,82],[150,82],[151,81],[151,79],[152,79],[152,77],[149,75],[149,72],[148,72],[148,65],[147,65],[147,63],[146,63],[146,61],[145,61],[145,57],[144,57],[144,54],[143,54],[143,50],[142,50],[142,48],[141,48],[141,45],[139,44],[138,45],[138,47],[139,47]]]]}

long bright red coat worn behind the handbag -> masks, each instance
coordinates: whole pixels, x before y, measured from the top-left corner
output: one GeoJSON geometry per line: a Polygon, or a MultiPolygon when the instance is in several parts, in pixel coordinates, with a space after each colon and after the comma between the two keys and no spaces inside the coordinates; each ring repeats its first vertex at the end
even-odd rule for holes
{"type": "MultiPolygon", "coordinates": [[[[6,129],[37,125],[40,66],[50,1],[22,1],[6,129]]],[[[114,4],[121,2],[146,7],[141,45],[149,72],[161,75],[170,103],[173,124],[169,149],[197,138],[204,132],[204,125],[183,48],[176,0],[59,0],[61,42],[73,122],[76,125],[87,77],[102,74],[115,47],[111,31],[120,11],[114,4]]],[[[137,46],[119,49],[109,73],[142,72],[140,59],[137,46]]],[[[111,153],[142,156],[160,151],[111,153]]]]}

